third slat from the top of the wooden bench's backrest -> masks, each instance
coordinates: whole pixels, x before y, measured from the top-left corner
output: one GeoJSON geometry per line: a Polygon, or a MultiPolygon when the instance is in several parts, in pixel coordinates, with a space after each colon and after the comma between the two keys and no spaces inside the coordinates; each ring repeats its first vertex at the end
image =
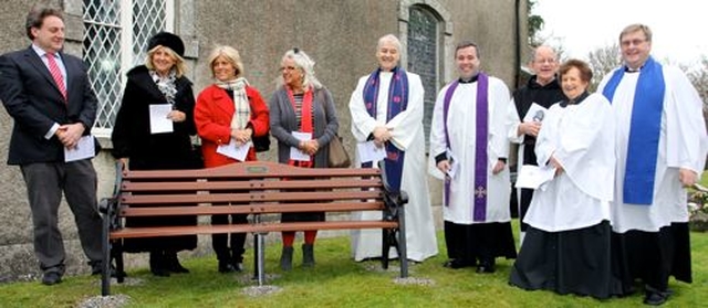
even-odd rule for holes
{"type": "Polygon", "coordinates": [[[379,191],[312,191],[312,192],[251,192],[210,194],[122,194],[122,204],[197,204],[197,203],[251,203],[278,201],[356,200],[381,199],[379,191]]]}

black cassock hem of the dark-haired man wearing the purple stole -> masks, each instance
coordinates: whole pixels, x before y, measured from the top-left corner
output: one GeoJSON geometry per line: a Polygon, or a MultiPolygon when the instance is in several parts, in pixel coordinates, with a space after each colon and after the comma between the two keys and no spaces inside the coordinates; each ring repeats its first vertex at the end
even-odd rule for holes
{"type": "Polygon", "coordinates": [[[445,221],[445,243],[450,259],[470,266],[496,257],[517,257],[510,222],[457,224],[445,221]]]}

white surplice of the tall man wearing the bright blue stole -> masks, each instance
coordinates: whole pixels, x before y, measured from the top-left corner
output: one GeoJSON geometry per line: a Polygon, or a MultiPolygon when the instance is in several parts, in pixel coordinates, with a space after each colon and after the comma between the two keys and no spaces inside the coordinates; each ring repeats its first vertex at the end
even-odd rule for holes
{"type": "MultiPolygon", "coordinates": [[[[704,170],[708,142],[702,117],[702,100],[679,68],[663,65],[663,72],[666,88],[654,177],[654,203],[650,205],[623,202],[626,161],[632,159],[627,157],[627,147],[634,93],[642,72],[625,73],[612,99],[617,123],[617,166],[612,229],[617,233],[629,230],[658,232],[660,227],[670,225],[673,222],[688,222],[687,192],[678,180],[678,169],[694,170],[698,173],[698,179],[704,170]]],[[[605,75],[597,93],[602,93],[613,74],[614,71],[605,75]]]]}

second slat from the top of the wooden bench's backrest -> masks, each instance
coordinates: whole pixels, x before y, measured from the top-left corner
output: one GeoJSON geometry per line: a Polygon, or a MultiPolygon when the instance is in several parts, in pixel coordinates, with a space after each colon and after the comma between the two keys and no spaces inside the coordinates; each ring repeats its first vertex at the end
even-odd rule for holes
{"type": "Polygon", "coordinates": [[[250,181],[162,181],[162,182],[132,182],[125,181],[121,185],[124,192],[140,191],[228,191],[228,190],[278,190],[278,189],[345,189],[345,188],[381,188],[381,178],[341,178],[341,179],[319,179],[319,180],[250,180],[250,181]]]}

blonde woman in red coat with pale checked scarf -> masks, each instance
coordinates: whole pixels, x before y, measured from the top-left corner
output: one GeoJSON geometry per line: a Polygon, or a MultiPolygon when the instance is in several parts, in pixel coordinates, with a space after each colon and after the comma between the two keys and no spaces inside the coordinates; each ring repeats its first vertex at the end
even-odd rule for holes
{"type": "MultiPolygon", "coordinates": [[[[195,123],[201,137],[205,167],[256,160],[251,138],[268,135],[268,107],[260,93],[242,77],[243,64],[237,50],[230,46],[216,47],[209,56],[209,67],[216,82],[199,93],[195,106],[195,123]],[[230,157],[217,152],[220,146],[232,149],[248,147],[248,152],[246,157],[229,153],[230,157]]],[[[244,214],[230,216],[235,224],[247,223],[244,214]]],[[[228,223],[229,215],[211,216],[211,224],[228,223]]],[[[220,273],[243,270],[244,243],[246,233],[211,235],[220,273]]]]}

